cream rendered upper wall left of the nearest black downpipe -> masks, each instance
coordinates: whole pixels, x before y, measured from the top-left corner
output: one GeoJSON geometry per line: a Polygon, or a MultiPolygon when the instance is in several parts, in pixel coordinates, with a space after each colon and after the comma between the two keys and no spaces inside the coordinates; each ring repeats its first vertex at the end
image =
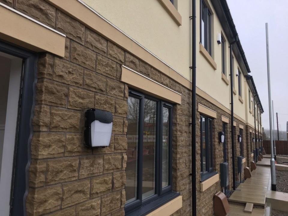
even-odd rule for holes
{"type": "Polygon", "coordinates": [[[191,80],[190,1],[178,1],[182,26],[178,26],[159,0],[82,1],[191,80]]]}

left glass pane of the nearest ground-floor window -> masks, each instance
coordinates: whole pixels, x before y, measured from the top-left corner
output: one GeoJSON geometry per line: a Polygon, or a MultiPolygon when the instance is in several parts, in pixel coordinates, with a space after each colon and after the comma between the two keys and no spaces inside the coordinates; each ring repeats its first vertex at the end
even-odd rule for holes
{"type": "Polygon", "coordinates": [[[138,158],[138,125],[140,100],[128,98],[127,115],[127,165],[126,165],[126,203],[137,199],[137,158],[138,158]]]}

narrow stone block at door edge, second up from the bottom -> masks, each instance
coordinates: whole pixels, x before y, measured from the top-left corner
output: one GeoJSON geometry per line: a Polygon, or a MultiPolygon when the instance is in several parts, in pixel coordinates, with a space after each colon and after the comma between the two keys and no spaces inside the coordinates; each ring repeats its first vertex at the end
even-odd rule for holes
{"type": "Polygon", "coordinates": [[[42,187],[45,183],[46,161],[32,160],[29,167],[29,187],[42,187]]]}

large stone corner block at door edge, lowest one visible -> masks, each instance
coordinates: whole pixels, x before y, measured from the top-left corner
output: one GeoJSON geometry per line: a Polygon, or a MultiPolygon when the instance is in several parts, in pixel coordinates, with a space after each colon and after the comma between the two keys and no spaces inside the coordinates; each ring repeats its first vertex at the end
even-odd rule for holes
{"type": "Polygon", "coordinates": [[[54,187],[30,188],[26,198],[28,216],[39,216],[60,209],[62,198],[61,185],[54,187]]]}

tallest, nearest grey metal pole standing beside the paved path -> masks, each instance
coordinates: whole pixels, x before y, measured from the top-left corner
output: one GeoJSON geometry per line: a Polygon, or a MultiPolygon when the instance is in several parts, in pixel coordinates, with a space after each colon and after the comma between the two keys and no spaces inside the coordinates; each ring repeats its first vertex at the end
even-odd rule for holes
{"type": "Polygon", "coordinates": [[[272,107],[271,107],[271,88],[270,88],[270,63],[269,63],[269,39],[268,39],[268,23],[266,22],[266,51],[267,51],[267,78],[268,78],[268,102],[269,102],[269,123],[270,123],[270,144],[271,144],[271,189],[276,191],[276,167],[273,158],[273,133],[272,133],[272,107]]]}

